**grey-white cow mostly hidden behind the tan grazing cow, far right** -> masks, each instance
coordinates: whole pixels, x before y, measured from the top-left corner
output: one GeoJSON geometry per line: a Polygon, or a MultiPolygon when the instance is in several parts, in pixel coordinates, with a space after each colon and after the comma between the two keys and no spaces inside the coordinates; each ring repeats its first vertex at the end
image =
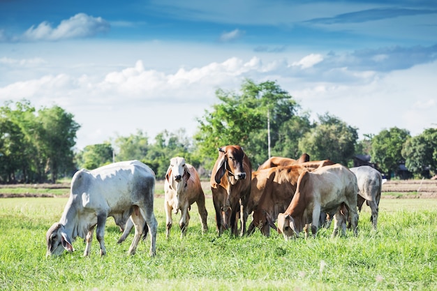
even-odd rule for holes
{"type": "Polygon", "coordinates": [[[381,197],[381,188],[383,186],[383,176],[378,170],[368,165],[351,167],[350,170],[355,174],[355,176],[357,176],[358,209],[361,211],[362,204],[366,201],[372,212],[371,222],[373,224],[373,229],[376,230],[376,224],[378,223],[378,206],[381,197]]]}

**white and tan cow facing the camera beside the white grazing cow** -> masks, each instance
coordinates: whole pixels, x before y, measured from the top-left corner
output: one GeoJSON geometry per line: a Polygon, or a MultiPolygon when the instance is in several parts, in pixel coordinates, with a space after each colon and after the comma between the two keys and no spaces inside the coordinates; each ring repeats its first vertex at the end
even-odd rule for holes
{"type": "Polygon", "coordinates": [[[205,207],[205,193],[203,193],[200,178],[195,168],[185,162],[185,158],[179,156],[170,159],[170,166],[165,174],[165,216],[166,216],[166,237],[170,236],[172,228],[172,212],[177,214],[181,211],[181,238],[185,236],[190,214],[188,213],[191,204],[196,202],[200,221],[202,222],[202,233],[208,231],[207,209],[205,207]]]}

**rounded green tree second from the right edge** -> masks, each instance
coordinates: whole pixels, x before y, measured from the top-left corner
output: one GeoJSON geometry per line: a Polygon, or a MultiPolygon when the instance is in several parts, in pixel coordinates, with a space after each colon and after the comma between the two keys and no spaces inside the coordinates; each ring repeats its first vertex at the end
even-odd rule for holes
{"type": "Polygon", "coordinates": [[[403,143],[410,137],[410,132],[397,127],[382,130],[372,139],[371,161],[390,176],[397,172],[399,163],[404,163],[403,143]]]}

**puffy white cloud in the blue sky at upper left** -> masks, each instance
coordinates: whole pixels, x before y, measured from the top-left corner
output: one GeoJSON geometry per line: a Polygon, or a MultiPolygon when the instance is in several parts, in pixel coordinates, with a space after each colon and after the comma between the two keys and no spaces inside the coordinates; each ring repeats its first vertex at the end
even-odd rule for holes
{"type": "Polygon", "coordinates": [[[68,20],[62,20],[58,27],[48,22],[41,22],[38,27],[32,26],[23,34],[22,40],[61,40],[68,38],[87,38],[110,30],[110,24],[102,17],[92,17],[78,13],[68,20]]]}

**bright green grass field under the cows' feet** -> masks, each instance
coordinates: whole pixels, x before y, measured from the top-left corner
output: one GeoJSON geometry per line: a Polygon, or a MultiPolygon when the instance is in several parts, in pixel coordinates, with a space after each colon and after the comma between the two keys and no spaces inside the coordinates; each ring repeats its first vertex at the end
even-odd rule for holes
{"type": "Polygon", "coordinates": [[[217,237],[211,198],[207,234],[194,204],[187,237],[179,239],[178,214],[167,240],[163,198],[156,198],[155,258],[149,239],[128,256],[133,235],[118,245],[112,218],[104,258],[96,239],[83,258],[80,238],[74,253],[45,258],[45,232],[66,201],[0,200],[0,290],[437,290],[437,200],[381,200],[377,232],[364,207],[358,237],[331,239],[332,229],[322,229],[316,239],[284,241],[275,232],[217,237]]]}

